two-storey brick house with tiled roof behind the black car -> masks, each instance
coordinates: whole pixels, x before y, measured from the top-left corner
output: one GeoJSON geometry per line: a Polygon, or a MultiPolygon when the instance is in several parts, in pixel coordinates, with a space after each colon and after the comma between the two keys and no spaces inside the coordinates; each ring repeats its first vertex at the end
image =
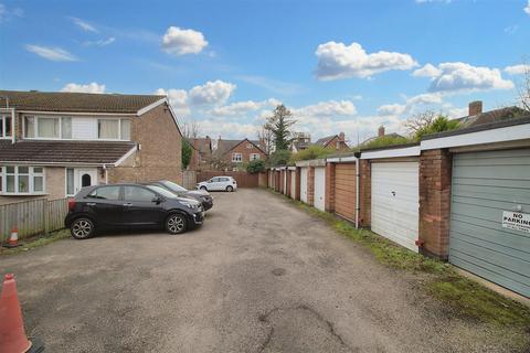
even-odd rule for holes
{"type": "Polygon", "coordinates": [[[0,203],[181,181],[182,135],[163,96],[0,90],[0,203]]]}

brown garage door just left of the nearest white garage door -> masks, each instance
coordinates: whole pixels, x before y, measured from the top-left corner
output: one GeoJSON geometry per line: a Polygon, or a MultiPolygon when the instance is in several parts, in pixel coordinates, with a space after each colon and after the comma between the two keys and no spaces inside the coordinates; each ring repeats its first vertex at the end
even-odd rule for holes
{"type": "Polygon", "coordinates": [[[337,163],[335,168],[335,212],[356,220],[356,163],[337,163]]]}

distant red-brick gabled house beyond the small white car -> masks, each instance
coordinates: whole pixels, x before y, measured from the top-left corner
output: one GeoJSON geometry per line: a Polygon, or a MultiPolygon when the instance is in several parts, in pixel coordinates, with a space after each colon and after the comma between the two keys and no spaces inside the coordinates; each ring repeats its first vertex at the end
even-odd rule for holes
{"type": "Polygon", "coordinates": [[[218,148],[213,152],[213,168],[219,170],[240,170],[244,163],[257,159],[265,159],[264,143],[257,140],[218,140],[218,148]]]}

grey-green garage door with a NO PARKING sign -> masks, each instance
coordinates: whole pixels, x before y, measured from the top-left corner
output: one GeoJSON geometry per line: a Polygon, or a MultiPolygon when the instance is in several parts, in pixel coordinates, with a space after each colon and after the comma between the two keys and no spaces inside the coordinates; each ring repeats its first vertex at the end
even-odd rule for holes
{"type": "Polygon", "coordinates": [[[449,261],[530,297],[530,149],[453,158],[449,261]]]}

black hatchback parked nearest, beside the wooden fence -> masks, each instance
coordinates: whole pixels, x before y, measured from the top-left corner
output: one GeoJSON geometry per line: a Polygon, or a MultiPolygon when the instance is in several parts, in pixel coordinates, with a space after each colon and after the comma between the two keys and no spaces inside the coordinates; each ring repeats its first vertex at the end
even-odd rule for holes
{"type": "Polygon", "coordinates": [[[126,227],[166,228],[180,234],[202,224],[200,202],[179,197],[157,185],[110,184],[83,188],[68,202],[64,225],[76,239],[96,229],[126,227]]]}

